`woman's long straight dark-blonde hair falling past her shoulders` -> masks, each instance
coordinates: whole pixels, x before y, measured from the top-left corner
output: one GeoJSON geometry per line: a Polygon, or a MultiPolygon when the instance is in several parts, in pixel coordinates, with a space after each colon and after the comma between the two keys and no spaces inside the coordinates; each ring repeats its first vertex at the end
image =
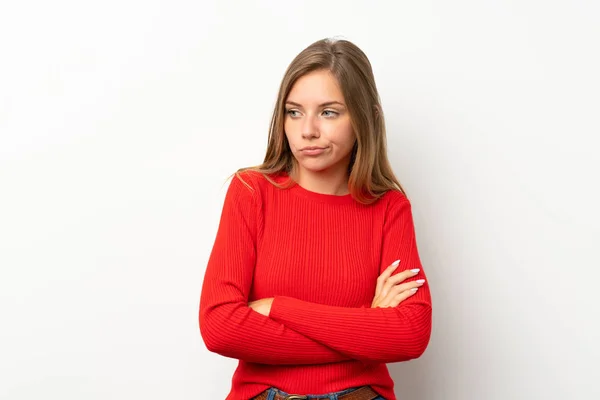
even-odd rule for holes
{"type": "Polygon", "coordinates": [[[278,184],[269,175],[284,172],[291,177],[298,168],[284,131],[285,101],[298,78],[317,70],[327,70],[336,77],[356,135],[348,167],[348,190],[352,197],[370,204],[388,190],[400,190],[406,195],[387,157],[385,121],[371,63],[365,53],[348,40],[318,40],[294,58],[279,87],[263,163],[240,168],[235,175],[243,182],[240,173],[250,170],[262,173],[277,187],[293,185],[291,179],[286,184],[278,184]]]}

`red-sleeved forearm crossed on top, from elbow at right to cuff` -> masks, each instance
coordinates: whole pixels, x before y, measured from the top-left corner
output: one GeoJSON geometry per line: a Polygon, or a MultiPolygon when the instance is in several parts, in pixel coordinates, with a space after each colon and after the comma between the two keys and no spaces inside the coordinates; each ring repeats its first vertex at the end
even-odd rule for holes
{"type": "Polygon", "coordinates": [[[390,308],[345,308],[275,297],[270,318],[363,362],[419,357],[431,334],[429,295],[390,308]],[[323,327],[323,321],[326,326],[323,327]]]}

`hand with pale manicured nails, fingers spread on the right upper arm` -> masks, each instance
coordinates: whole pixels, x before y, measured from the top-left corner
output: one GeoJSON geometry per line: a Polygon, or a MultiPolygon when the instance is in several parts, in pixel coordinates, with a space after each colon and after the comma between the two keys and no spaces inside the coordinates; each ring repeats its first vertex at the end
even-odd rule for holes
{"type": "Polygon", "coordinates": [[[377,278],[377,288],[375,290],[375,297],[371,303],[371,308],[396,307],[408,297],[415,294],[417,290],[419,290],[419,287],[423,286],[425,283],[424,279],[401,283],[406,279],[417,275],[420,270],[406,270],[392,276],[392,273],[398,268],[398,265],[400,265],[400,260],[393,262],[377,278]]]}

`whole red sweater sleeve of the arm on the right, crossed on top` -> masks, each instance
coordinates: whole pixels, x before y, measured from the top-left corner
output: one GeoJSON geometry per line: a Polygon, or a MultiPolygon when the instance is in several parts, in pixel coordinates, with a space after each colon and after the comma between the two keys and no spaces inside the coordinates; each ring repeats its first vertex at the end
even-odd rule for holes
{"type": "MultiPolygon", "coordinates": [[[[380,273],[398,259],[400,266],[394,274],[421,269],[405,282],[426,279],[417,251],[411,204],[404,195],[394,193],[384,221],[380,273]]],[[[388,308],[329,306],[277,296],[269,317],[352,358],[391,363],[423,354],[431,335],[431,315],[426,282],[398,306],[388,308]]]]}

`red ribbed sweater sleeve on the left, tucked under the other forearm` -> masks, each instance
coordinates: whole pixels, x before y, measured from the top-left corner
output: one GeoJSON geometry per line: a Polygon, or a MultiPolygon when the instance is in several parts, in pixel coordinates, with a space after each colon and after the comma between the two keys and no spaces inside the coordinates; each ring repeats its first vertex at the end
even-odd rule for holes
{"type": "Polygon", "coordinates": [[[225,195],[200,295],[199,326],[206,347],[225,357],[262,364],[350,359],[248,307],[256,260],[253,191],[234,176],[225,195]]]}

